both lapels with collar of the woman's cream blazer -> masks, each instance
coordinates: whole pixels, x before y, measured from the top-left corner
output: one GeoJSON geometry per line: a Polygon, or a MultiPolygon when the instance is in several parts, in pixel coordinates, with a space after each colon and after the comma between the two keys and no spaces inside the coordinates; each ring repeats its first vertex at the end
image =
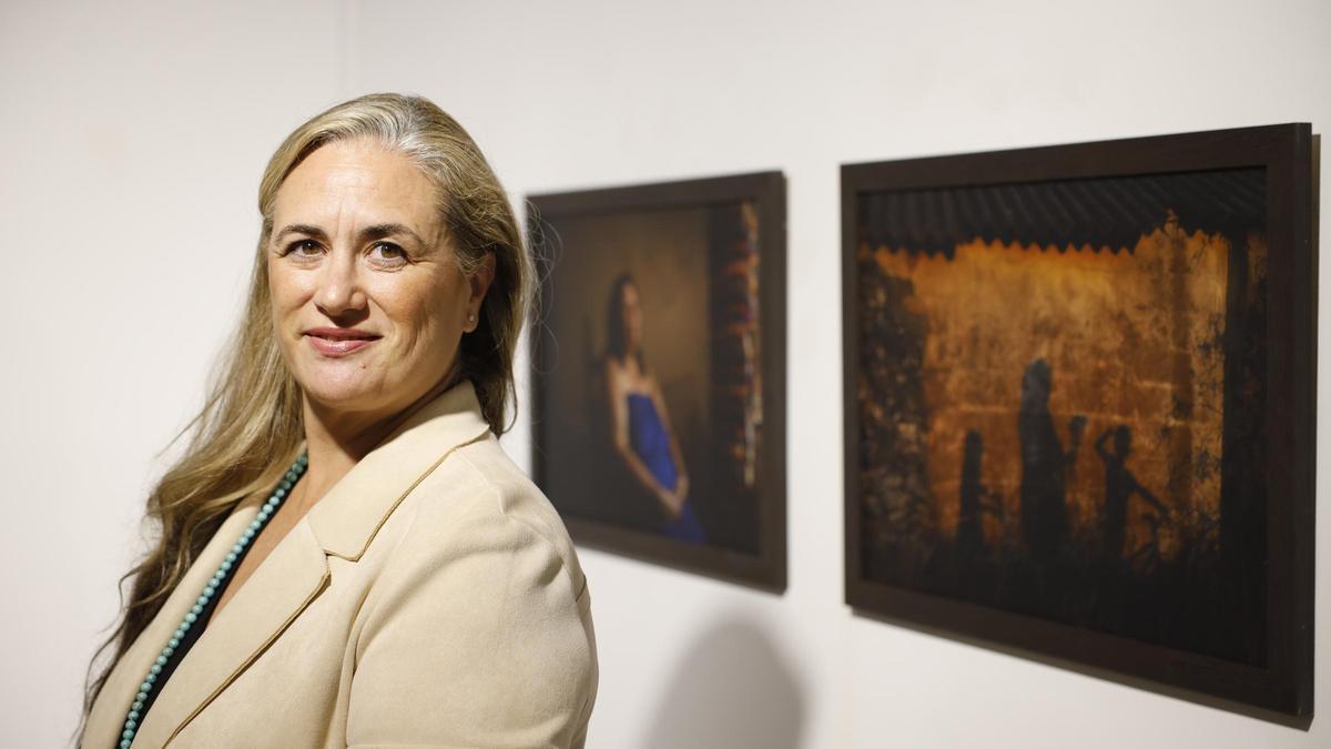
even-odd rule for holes
{"type": "MultiPolygon", "coordinates": [[[[359,560],[402,498],[457,446],[483,437],[488,429],[474,386],[463,380],[413,413],[361,458],[208,624],[162,688],[134,744],[160,746],[174,738],[327,588],[330,554],[359,560]]],[[[238,508],[200,554],[134,644],[129,680],[142,678],[208,577],[257,513],[258,501],[238,508]]],[[[122,686],[133,689],[137,684],[122,686]]]]}

